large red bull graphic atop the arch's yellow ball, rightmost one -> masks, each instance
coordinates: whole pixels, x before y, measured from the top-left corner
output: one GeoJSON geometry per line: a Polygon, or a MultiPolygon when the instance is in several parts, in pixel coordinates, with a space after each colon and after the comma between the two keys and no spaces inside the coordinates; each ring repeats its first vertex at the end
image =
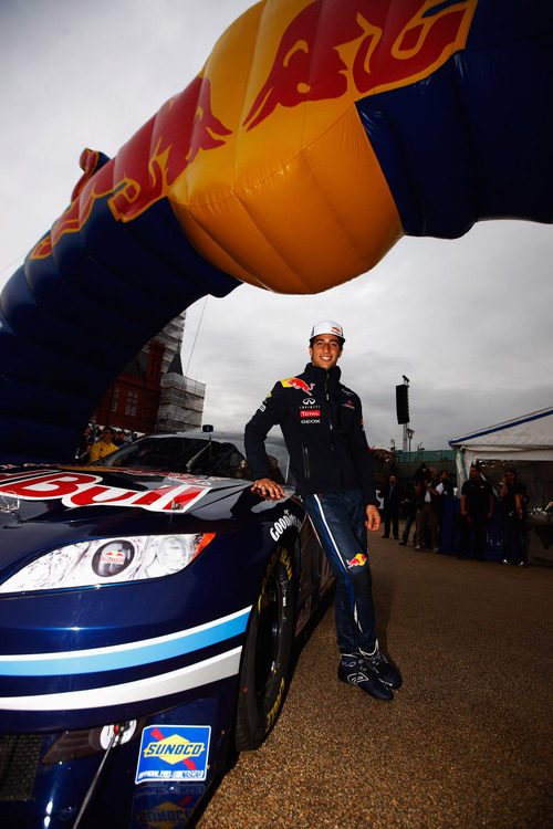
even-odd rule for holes
{"type": "Polygon", "coordinates": [[[465,46],[476,9],[474,0],[341,0],[322,25],[328,6],[315,0],[286,28],[269,76],[246,117],[248,129],[276,106],[338,98],[349,84],[366,95],[419,80],[452,49],[465,46]],[[341,56],[347,46],[352,46],[348,62],[341,56]]]}

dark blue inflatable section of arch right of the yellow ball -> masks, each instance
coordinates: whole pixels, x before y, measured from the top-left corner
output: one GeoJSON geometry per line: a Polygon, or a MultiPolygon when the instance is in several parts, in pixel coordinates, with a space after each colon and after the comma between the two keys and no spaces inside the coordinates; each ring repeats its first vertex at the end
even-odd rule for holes
{"type": "Polygon", "coordinates": [[[357,103],[407,235],[553,221],[552,31],[553,3],[480,2],[465,50],[357,103]]]}

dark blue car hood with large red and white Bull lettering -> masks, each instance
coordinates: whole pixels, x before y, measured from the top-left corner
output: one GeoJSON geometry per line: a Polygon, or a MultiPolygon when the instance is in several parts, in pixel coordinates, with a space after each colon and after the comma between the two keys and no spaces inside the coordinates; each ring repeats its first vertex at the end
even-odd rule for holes
{"type": "Polygon", "coordinates": [[[76,541],[232,532],[271,507],[251,492],[250,481],[104,466],[1,466],[0,577],[22,559],[76,541]]]}

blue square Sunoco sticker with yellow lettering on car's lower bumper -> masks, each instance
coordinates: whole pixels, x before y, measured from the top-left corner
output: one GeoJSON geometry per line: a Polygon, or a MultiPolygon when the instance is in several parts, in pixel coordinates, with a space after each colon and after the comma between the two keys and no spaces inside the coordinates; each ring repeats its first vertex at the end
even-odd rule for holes
{"type": "Polygon", "coordinates": [[[149,725],[143,731],[135,783],[205,780],[209,725],[149,725]]]}

